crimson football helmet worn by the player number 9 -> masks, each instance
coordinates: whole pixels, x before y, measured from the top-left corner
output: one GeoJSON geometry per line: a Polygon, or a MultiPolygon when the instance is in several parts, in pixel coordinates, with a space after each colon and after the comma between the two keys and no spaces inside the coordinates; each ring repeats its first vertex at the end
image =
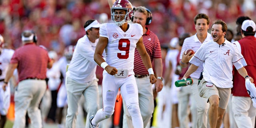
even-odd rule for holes
{"type": "Polygon", "coordinates": [[[118,26],[122,26],[124,23],[128,22],[133,16],[132,4],[128,0],[116,0],[114,2],[111,11],[111,20],[116,23],[118,26]],[[126,10],[126,14],[124,15],[124,20],[116,21],[115,20],[115,10],[126,10]]]}

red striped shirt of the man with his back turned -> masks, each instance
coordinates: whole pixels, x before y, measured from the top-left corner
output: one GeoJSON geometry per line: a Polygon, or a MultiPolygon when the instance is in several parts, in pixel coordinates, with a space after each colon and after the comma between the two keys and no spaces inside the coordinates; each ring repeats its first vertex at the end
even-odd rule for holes
{"type": "Polygon", "coordinates": [[[29,43],[15,50],[10,63],[18,63],[18,81],[20,82],[27,78],[45,79],[47,64],[50,61],[46,50],[34,43],[29,43]]]}

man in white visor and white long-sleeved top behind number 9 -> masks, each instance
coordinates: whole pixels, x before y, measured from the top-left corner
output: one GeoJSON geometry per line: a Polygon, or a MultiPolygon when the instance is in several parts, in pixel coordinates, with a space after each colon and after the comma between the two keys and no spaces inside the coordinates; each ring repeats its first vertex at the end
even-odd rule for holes
{"type": "Polygon", "coordinates": [[[78,102],[84,95],[86,104],[86,128],[90,127],[90,115],[95,115],[98,110],[98,79],[96,78],[96,62],[94,51],[100,37],[100,24],[97,20],[88,20],[84,24],[86,35],[76,44],[72,60],[66,72],[66,89],[68,97],[68,113],[66,128],[76,128],[76,115],[78,102]]]}

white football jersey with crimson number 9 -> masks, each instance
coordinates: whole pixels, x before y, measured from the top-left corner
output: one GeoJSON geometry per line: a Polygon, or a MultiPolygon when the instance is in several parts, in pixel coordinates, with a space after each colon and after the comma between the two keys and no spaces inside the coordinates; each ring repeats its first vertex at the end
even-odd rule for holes
{"type": "Polygon", "coordinates": [[[128,25],[128,30],[124,32],[115,23],[102,24],[100,36],[108,38],[106,62],[116,69],[128,69],[129,74],[134,74],[134,51],[143,29],[140,24],[128,25]]]}

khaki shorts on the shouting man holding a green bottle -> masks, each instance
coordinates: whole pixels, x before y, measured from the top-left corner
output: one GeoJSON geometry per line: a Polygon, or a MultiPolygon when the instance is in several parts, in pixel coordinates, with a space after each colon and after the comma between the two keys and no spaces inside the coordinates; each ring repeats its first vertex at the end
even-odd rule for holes
{"type": "Polygon", "coordinates": [[[199,96],[206,98],[207,102],[209,102],[210,96],[217,95],[220,99],[219,108],[226,109],[231,88],[218,88],[214,84],[206,82],[203,78],[198,84],[198,92],[199,96]]]}

